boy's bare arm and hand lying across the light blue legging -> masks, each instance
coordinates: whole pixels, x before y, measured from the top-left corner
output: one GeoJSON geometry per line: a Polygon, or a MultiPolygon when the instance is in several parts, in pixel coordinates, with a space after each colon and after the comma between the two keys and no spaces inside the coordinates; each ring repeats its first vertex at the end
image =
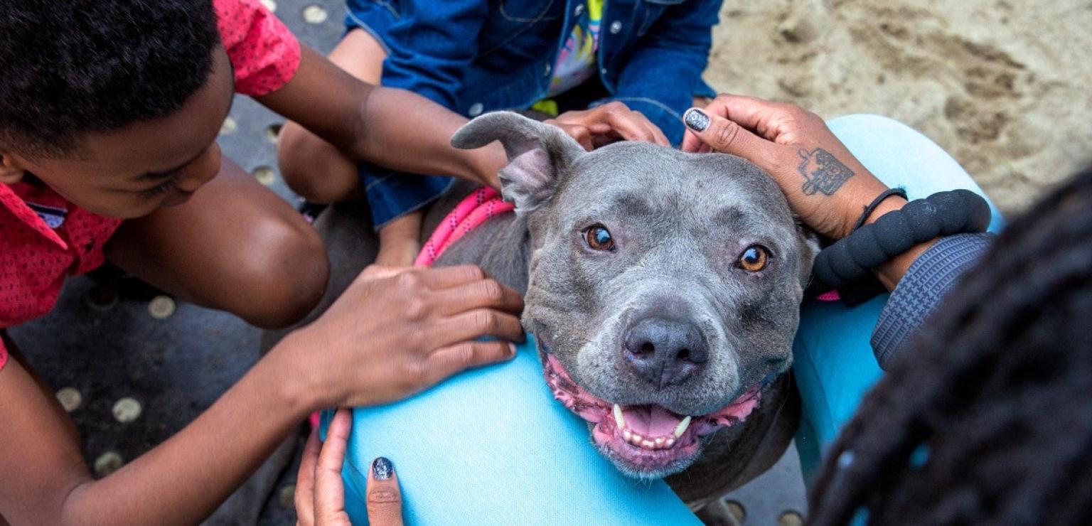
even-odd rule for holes
{"type": "Polygon", "coordinates": [[[519,294],[476,267],[366,271],[197,420],[93,480],[66,416],[24,364],[0,370],[0,517],[12,524],[195,524],[311,411],[407,396],[508,359],[519,294]],[[474,342],[491,335],[500,340],[474,342]],[[399,349],[392,352],[391,349],[399,349]]]}

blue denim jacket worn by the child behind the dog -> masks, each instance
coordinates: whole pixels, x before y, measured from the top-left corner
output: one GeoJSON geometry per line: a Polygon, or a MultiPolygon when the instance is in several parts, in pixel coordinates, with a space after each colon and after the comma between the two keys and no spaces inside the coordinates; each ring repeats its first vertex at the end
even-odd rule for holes
{"type": "MultiPolygon", "coordinates": [[[[674,143],[701,80],[722,0],[607,0],[600,34],[600,80],[674,143]]],[[[384,45],[382,84],[424,95],[462,115],[527,108],[546,96],[557,51],[585,0],[349,0],[381,8],[389,27],[357,20],[384,45]]]]}

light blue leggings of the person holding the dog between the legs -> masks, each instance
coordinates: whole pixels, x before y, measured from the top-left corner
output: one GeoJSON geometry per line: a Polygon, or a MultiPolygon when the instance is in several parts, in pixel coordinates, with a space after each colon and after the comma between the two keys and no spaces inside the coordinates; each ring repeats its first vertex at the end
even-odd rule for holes
{"type": "MultiPolygon", "coordinates": [[[[956,188],[982,193],[939,146],[899,122],[856,115],[829,125],[877,177],[905,188],[911,199],[956,188]]],[[[992,228],[999,225],[995,210],[992,228]]],[[[869,337],[886,300],[802,308],[793,351],[806,473],[880,375],[869,337]]],[[[595,451],[584,421],[553,399],[530,344],[510,363],[353,411],[343,475],[355,524],[367,523],[364,490],[379,455],[394,463],[411,525],[700,524],[663,481],[624,477],[595,451]]]]}

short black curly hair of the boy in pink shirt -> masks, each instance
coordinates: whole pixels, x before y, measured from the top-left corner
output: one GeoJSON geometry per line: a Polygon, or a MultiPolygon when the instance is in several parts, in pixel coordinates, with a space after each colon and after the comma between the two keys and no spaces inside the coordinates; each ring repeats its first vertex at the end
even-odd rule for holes
{"type": "Polygon", "coordinates": [[[0,0],[0,148],[36,156],[178,110],[219,43],[212,0],[0,0]]]}

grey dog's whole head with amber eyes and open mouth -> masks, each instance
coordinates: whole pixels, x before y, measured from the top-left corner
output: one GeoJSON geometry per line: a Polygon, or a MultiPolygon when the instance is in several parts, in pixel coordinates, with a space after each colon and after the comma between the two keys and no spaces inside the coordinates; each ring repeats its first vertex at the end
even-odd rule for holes
{"type": "Polygon", "coordinates": [[[622,471],[685,469],[788,370],[814,243],[739,157],[645,143],[585,152],[560,129],[488,113],[502,193],[531,232],[523,322],[546,381],[622,471]]]}

